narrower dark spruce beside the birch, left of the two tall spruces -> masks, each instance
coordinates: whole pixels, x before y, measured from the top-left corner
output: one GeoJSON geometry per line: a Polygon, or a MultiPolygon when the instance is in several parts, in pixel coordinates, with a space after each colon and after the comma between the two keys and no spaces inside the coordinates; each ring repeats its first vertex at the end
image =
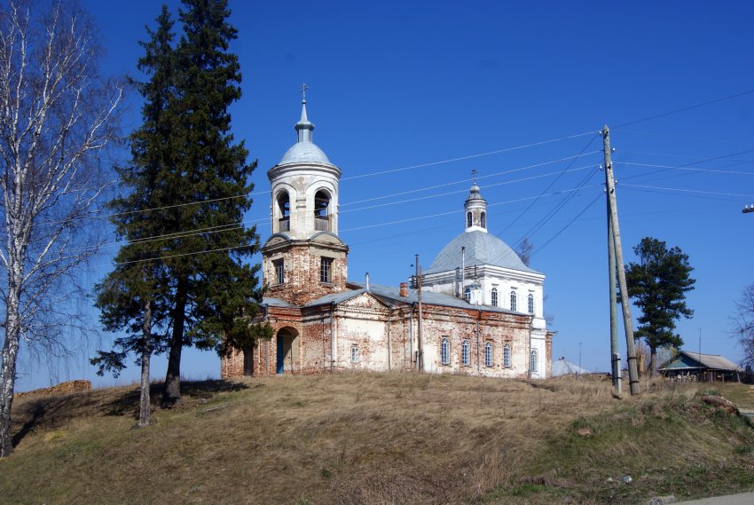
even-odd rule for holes
{"type": "Polygon", "coordinates": [[[164,330],[170,308],[169,277],[159,258],[167,249],[155,241],[165,233],[159,214],[169,202],[165,199],[164,174],[172,170],[174,145],[171,132],[176,117],[169,114],[175,99],[176,55],[172,47],[175,35],[167,7],[162,6],[155,31],[147,28],[150,40],[141,43],[145,55],[137,67],[150,76],[147,83],[137,83],[144,98],[142,126],[130,136],[131,163],[118,169],[125,196],[114,199],[112,221],[116,232],[128,244],[115,257],[115,268],[95,288],[100,320],[111,331],[125,330],[115,340],[114,351],[99,351],[91,359],[98,374],[106,370],[118,375],[130,352],[137,354],[141,365],[139,425],[150,422],[149,363],[153,351],[164,346],[164,330]]]}

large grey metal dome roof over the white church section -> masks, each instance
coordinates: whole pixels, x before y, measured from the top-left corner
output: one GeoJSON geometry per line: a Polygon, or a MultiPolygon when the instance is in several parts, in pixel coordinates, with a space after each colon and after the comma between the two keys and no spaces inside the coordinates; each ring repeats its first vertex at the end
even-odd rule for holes
{"type": "Polygon", "coordinates": [[[466,264],[486,264],[519,270],[522,272],[538,273],[532,270],[515,254],[506,242],[501,241],[495,235],[482,231],[464,232],[459,234],[448,245],[446,245],[440,254],[437,255],[432,265],[425,273],[447,272],[460,268],[464,263],[461,257],[461,248],[465,248],[466,264]]]}

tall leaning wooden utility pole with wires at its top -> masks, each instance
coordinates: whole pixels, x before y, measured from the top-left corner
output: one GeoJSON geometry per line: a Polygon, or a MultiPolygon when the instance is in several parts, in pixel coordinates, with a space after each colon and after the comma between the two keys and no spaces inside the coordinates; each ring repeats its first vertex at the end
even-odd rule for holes
{"type": "MultiPolygon", "coordinates": [[[[610,209],[609,223],[612,225],[613,244],[616,249],[616,266],[618,286],[620,286],[620,301],[623,308],[623,326],[625,329],[625,346],[628,351],[628,384],[631,394],[639,393],[639,372],[636,367],[636,351],[633,348],[633,320],[631,317],[631,302],[628,298],[628,287],[625,283],[625,268],[623,262],[623,248],[620,241],[620,226],[618,225],[618,211],[616,201],[615,178],[613,177],[613,162],[610,161],[610,130],[608,125],[602,129],[602,146],[605,154],[605,182],[608,187],[608,204],[610,209]]],[[[613,290],[614,288],[610,288],[613,290]]]]}

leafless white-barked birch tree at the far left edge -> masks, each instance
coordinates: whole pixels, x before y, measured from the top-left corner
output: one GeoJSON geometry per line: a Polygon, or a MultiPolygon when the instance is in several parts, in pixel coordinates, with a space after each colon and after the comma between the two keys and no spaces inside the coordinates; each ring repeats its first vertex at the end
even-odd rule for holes
{"type": "Polygon", "coordinates": [[[106,187],[120,83],[98,73],[89,16],[66,0],[0,6],[0,457],[12,452],[20,343],[56,345],[80,266],[98,249],[88,217],[106,187]]]}

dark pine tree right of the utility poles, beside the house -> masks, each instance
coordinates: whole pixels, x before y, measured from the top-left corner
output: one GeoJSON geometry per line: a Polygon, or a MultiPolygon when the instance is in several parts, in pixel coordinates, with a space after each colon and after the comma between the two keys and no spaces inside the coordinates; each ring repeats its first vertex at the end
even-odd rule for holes
{"type": "Polygon", "coordinates": [[[625,267],[625,280],[628,295],[641,310],[640,326],[634,336],[647,342],[649,372],[655,375],[657,349],[683,345],[680,335],[673,333],[675,321],[694,315],[686,304],[686,293],[694,289],[696,282],[690,276],[694,268],[678,247],[667,249],[664,241],[651,237],[641,239],[633,252],[640,261],[625,267]]]}

